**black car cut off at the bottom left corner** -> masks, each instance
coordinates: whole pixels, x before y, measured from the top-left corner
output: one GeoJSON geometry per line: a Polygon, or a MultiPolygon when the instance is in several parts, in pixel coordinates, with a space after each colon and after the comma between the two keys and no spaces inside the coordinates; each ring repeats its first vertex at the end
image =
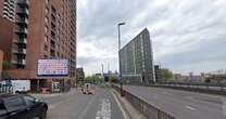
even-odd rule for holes
{"type": "Polygon", "coordinates": [[[48,104],[30,95],[0,94],[0,119],[46,119],[48,104]]]}

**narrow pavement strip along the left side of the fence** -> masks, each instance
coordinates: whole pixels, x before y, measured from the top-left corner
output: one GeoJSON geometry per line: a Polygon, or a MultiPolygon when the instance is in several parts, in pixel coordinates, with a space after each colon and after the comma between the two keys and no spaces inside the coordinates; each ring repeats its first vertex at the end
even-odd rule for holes
{"type": "Polygon", "coordinates": [[[112,89],[112,93],[117,97],[121,105],[125,109],[128,119],[148,119],[139,110],[137,110],[125,97],[122,97],[121,94],[112,89]]]}

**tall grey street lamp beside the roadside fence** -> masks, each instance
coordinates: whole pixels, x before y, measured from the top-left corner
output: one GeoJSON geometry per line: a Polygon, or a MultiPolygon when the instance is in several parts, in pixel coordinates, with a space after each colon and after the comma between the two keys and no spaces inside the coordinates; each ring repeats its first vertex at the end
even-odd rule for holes
{"type": "Polygon", "coordinates": [[[121,29],[120,29],[120,27],[121,26],[123,26],[123,25],[125,25],[126,23],[118,23],[117,24],[117,29],[118,29],[118,67],[120,67],[120,71],[118,71],[118,74],[120,74],[120,78],[121,78],[121,96],[123,96],[123,79],[122,79],[122,69],[121,69],[121,54],[120,54],[120,52],[121,52],[121,29]]]}

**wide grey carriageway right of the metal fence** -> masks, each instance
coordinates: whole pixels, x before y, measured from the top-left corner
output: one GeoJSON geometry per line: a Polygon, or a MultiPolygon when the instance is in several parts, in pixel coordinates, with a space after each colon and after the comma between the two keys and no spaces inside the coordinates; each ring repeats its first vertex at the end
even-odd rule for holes
{"type": "Polygon", "coordinates": [[[226,119],[224,96],[136,85],[124,85],[124,89],[176,119],[226,119]]]}

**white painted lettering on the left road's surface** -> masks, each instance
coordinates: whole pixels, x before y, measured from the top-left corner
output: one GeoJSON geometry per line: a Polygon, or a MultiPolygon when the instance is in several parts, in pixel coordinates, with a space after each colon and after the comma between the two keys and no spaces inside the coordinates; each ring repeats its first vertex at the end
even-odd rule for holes
{"type": "Polygon", "coordinates": [[[97,111],[96,119],[111,119],[111,102],[108,98],[101,100],[101,109],[97,111]]]}

